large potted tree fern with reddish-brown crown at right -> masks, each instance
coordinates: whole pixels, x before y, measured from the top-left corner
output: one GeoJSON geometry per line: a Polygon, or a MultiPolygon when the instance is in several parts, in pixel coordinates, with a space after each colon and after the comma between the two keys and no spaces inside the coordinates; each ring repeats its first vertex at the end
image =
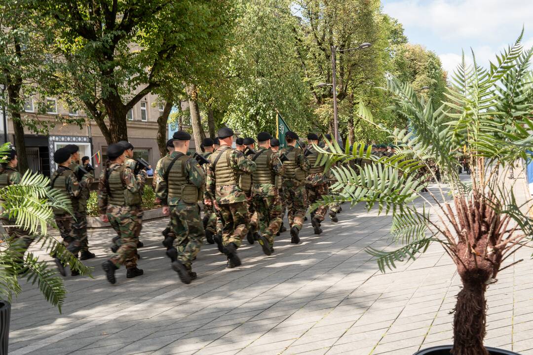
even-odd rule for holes
{"type": "MultiPolygon", "coordinates": [[[[384,272],[400,261],[414,260],[431,243],[439,243],[454,261],[462,290],[454,309],[454,344],[426,349],[424,355],[496,355],[512,352],[485,348],[485,292],[497,281],[498,272],[533,235],[532,219],[516,201],[505,174],[518,159],[528,158],[533,146],[532,49],[524,49],[522,36],[495,63],[484,69],[475,61],[458,65],[447,100],[434,109],[417,97],[413,88],[387,77],[386,90],[395,109],[413,129],[389,129],[373,121],[361,104],[359,115],[397,142],[390,157],[372,155],[363,145],[350,151],[336,142],[329,151],[316,147],[319,164],[330,168],[337,179],[335,195],[322,203],[366,203],[379,213],[392,214],[391,235],[398,250],[368,248],[384,272]],[[453,156],[465,151],[470,160],[470,178],[461,178],[453,156]],[[364,168],[343,164],[365,158],[364,168]],[[447,187],[429,192],[429,177],[436,162],[447,187]],[[333,167],[333,164],[340,166],[333,167]],[[429,211],[432,211],[431,213],[429,211]]],[[[529,202],[529,201],[528,201],[529,202]]]]}

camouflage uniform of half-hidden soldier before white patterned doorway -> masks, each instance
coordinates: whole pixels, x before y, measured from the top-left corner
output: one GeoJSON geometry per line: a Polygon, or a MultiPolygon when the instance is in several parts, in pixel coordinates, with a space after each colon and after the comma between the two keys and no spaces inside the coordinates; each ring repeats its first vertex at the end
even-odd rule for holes
{"type": "MultiPolygon", "coordinates": [[[[78,170],[80,166],[76,163],[72,163],[69,169],[74,171],[74,176],[78,176],[78,170]]],[[[79,183],[79,196],[76,205],[72,205],[74,217],[76,219],[74,223],[74,233],[77,235],[77,240],[82,242],[82,251],[89,250],[89,243],[87,240],[87,201],[91,194],[91,184],[94,182],[92,174],[84,174],[79,183]]]]}

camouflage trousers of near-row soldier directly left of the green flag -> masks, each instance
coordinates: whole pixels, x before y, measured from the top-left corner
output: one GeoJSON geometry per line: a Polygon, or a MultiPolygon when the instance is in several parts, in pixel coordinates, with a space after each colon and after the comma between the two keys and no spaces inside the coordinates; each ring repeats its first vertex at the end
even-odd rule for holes
{"type": "Polygon", "coordinates": [[[271,184],[254,184],[252,188],[254,210],[257,213],[261,235],[269,245],[274,245],[274,236],[281,227],[281,197],[278,188],[271,184]]]}

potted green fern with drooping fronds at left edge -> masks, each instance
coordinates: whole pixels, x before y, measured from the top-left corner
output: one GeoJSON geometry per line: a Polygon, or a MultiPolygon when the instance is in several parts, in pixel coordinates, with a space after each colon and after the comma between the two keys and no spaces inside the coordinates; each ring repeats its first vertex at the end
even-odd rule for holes
{"type": "MultiPolygon", "coordinates": [[[[11,148],[0,147],[0,157],[11,148]]],[[[4,158],[5,159],[5,158],[4,158]]],[[[0,158],[0,162],[4,162],[0,158]]],[[[56,255],[80,274],[87,275],[90,269],[83,266],[54,236],[48,233],[48,226],[54,225],[52,208],[70,210],[70,202],[61,192],[49,187],[50,179],[26,171],[17,185],[0,188],[0,213],[11,221],[10,227],[25,229],[35,238],[39,249],[56,255]]],[[[40,260],[35,254],[26,252],[25,242],[9,234],[0,234],[0,355],[7,355],[11,300],[22,288],[20,279],[26,278],[37,284],[44,298],[53,306],[61,306],[67,291],[63,278],[55,267],[40,260]]]]}

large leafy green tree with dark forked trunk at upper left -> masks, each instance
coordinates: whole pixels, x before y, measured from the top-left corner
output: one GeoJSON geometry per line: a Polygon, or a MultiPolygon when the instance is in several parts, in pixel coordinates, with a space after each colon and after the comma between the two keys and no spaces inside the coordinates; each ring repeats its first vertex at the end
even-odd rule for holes
{"type": "Polygon", "coordinates": [[[224,46],[233,9],[231,0],[31,4],[54,30],[66,92],[84,103],[108,144],[127,140],[126,114],[142,97],[224,46]]]}

